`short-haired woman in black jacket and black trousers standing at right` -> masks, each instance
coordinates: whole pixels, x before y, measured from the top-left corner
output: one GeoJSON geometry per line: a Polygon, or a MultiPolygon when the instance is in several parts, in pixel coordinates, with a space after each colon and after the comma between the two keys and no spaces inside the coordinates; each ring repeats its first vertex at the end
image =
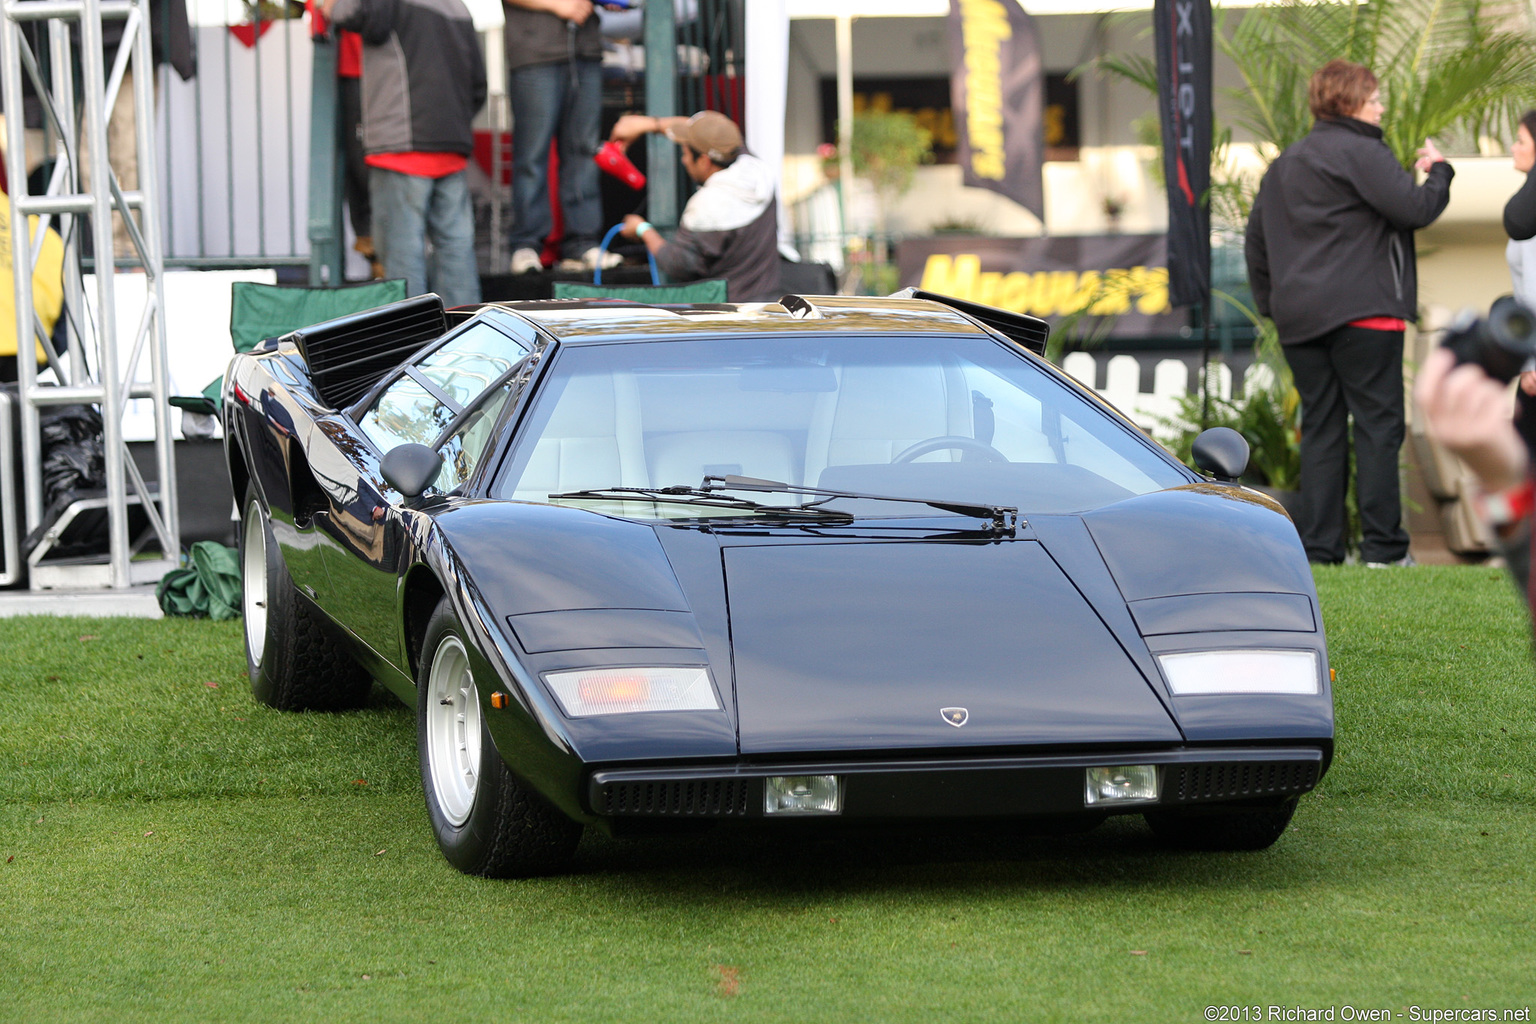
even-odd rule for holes
{"type": "Polygon", "coordinates": [[[1369,68],[1333,60],[1312,75],[1316,121],[1264,173],[1247,223],[1249,282],[1275,321],[1301,395],[1301,507],[1307,557],[1346,553],[1349,421],[1370,567],[1412,565],[1402,528],[1402,333],[1418,316],[1413,232],[1450,201],[1453,170],[1430,140],[1422,184],[1382,141],[1369,68]]]}

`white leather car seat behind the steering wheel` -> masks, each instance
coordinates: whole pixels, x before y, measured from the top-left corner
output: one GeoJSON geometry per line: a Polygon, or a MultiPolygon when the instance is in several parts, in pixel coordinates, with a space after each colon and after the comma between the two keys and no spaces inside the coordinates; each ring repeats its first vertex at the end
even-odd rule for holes
{"type": "MultiPolygon", "coordinates": [[[[805,481],[829,465],[885,465],[905,448],[946,434],[972,436],[971,393],[954,364],[935,367],[849,365],[837,390],[819,396],[805,445],[805,481]]],[[[952,462],[943,450],[923,461],[952,462]]]]}

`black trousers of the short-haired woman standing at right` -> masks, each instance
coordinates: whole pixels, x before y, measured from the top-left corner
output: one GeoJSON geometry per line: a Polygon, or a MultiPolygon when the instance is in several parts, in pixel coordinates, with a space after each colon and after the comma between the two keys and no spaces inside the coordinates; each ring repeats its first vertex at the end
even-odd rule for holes
{"type": "Polygon", "coordinates": [[[1402,332],[1339,327],[1286,345],[1301,395],[1301,510],[1296,530],[1313,562],[1342,562],[1347,540],[1349,419],[1355,418],[1355,499],[1366,562],[1409,553],[1398,451],[1402,448],[1402,332]]]}

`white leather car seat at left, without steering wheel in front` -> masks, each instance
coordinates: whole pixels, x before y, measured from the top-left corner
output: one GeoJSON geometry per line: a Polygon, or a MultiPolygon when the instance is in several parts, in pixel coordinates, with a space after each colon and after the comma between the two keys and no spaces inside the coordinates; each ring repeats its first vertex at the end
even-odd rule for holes
{"type": "Polygon", "coordinates": [[[542,502],[594,487],[650,487],[639,391],[627,373],[570,379],[513,497],[542,502]]]}

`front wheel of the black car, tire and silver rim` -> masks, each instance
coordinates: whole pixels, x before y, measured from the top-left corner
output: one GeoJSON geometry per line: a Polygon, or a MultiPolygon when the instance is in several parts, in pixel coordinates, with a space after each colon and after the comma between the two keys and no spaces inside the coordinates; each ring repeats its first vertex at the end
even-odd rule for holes
{"type": "Polygon", "coordinates": [[[427,622],[416,677],[416,752],[438,846],[465,875],[562,870],[582,826],[511,774],[481,711],[468,639],[442,600],[427,622]]]}

